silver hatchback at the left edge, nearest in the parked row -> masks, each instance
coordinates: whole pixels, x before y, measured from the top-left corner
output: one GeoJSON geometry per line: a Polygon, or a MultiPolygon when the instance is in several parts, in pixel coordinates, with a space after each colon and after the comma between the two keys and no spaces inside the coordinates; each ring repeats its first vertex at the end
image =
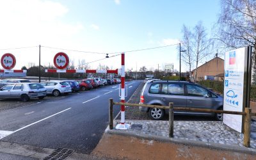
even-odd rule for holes
{"type": "Polygon", "coordinates": [[[40,83],[6,84],[0,89],[0,99],[20,99],[24,102],[31,98],[44,99],[46,90],[40,83]]]}

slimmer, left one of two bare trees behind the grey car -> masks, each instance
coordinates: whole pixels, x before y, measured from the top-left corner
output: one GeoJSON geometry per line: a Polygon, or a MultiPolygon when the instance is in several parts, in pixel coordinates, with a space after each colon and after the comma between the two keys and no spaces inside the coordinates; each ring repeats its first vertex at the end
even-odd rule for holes
{"type": "Polygon", "coordinates": [[[192,49],[191,49],[191,41],[192,41],[192,33],[189,31],[189,28],[185,25],[183,25],[182,28],[183,38],[180,40],[181,50],[185,51],[180,54],[180,58],[182,61],[188,65],[189,68],[189,76],[191,76],[191,68],[193,67],[193,55],[192,55],[192,49]]]}

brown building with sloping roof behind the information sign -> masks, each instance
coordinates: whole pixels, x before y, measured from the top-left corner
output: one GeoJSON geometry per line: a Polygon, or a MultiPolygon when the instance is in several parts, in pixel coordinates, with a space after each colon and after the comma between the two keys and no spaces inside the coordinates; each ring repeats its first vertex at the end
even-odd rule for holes
{"type": "MultiPolygon", "coordinates": [[[[191,72],[191,80],[195,78],[195,69],[191,72]]],[[[218,56],[204,63],[197,68],[196,81],[203,80],[208,77],[224,77],[224,60],[218,56]]]]}

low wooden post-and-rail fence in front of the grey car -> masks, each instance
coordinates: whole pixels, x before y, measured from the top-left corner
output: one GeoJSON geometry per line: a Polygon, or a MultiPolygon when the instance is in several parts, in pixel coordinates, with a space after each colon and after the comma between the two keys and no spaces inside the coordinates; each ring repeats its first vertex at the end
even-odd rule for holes
{"type": "Polygon", "coordinates": [[[251,108],[245,108],[244,112],[239,111],[221,111],[216,109],[200,109],[200,108],[182,108],[175,107],[173,108],[173,103],[170,102],[169,106],[157,106],[150,104],[132,104],[132,103],[122,103],[122,102],[113,102],[113,99],[109,99],[109,129],[113,129],[113,105],[118,106],[131,106],[131,107],[147,107],[147,108],[160,108],[160,109],[169,109],[169,133],[168,136],[173,138],[173,110],[175,111],[198,111],[198,112],[207,112],[207,113],[225,113],[231,115],[242,115],[244,118],[244,142],[245,147],[250,147],[250,130],[251,130],[251,116],[256,116],[256,113],[252,113],[251,108]]]}

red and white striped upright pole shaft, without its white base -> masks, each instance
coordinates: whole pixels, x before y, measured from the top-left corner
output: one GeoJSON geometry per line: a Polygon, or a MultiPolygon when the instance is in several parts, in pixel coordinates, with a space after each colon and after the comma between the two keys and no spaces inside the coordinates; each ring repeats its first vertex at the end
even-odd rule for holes
{"type": "MultiPolygon", "coordinates": [[[[124,103],[125,102],[125,88],[124,88],[124,84],[125,84],[125,65],[124,65],[124,52],[122,52],[121,54],[122,57],[122,68],[121,68],[121,102],[124,103]]],[[[121,106],[121,124],[124,124],[125,121],[125,107],[124,105],[121,106]]]]}

